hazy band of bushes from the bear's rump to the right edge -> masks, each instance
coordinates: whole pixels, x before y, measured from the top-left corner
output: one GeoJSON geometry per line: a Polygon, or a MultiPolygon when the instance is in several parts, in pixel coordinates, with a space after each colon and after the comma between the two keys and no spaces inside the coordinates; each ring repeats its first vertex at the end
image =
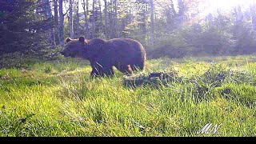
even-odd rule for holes
{"type": "Polygon", "coordinates": [[[156,39],[154,47],[148,46],[148,58],[255,53],[256,43],[252,30],[246,25],[234,26],[234,28],[235,30],[230,32],[217,26],[204,28],[196,24],[186,26],[174,34],[162,34],[156,39]]]}

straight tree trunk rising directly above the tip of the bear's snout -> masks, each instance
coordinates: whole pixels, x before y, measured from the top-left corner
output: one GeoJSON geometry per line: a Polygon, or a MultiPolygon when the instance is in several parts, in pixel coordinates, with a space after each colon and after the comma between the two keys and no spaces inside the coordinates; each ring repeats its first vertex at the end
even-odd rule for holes
{"type": "Polygon", "coordinates": [[[63,0],[59,0],[59,41],[62,49],[64,48],[64,14],[63,14],[63,0]]]}

